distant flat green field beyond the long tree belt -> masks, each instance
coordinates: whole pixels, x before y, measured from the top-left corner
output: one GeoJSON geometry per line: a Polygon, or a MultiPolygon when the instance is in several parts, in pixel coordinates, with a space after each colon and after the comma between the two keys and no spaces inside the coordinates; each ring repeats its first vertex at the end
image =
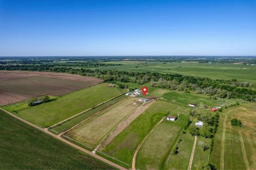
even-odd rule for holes
{"type": "Polygon", "coordinates": [[[158,73],[180,73],[183,75],[207,77],[211,79],[231,80],[237,79],[244,82],[256,82],[254,73],[256,65],[244,64],[218,64],[218,63],[162,63],[162,62],[140,62],[140,61],[118,61],[105,62],[113,64],[123,64],[117,66],[99,67],[102,70],[125,70],[136,72],[158,72],[158,73]]]}

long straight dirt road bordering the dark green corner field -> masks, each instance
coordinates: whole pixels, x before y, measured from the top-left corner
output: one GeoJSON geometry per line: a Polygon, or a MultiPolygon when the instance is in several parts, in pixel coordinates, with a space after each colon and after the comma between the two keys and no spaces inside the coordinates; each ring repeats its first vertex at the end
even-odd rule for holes
{"type": "Polygon", "coordinates": [[[76,149],[79,149],[79,150],[85,152],[85,153],[88,154],[88,155],[93,156],[94,158],[97,158],[97,159],[99,159],[99,160],[101,160],[101,161],[103,161],[103,162],[105,162],[105,163],[107,163],[107,164],[109,164],[109,165],[111,165],[111,166],[114,166],[114,167],[116,167],[116,168],[118,168],[118,169],[125,169],[125,168],[122,167],[122,166],[119,166],[119,165],[117,165],[117,164],[115,164],[115,163],[113,163],[113,162],[110,162],[109,160],[107,160],[107,159],[105,159],[105,158],[102,158],[102,157],[100,157],[100,156],[98,156],[98,155],[96,155],[96,154],[93,154],[92,152],[90,152],[90,151],[88,151],[88,150],[86,150],[86,149],[84,149],[84,148],[82,148],[82,147],[79,147],[79,146],[75,145],[74,143],[71,143],[71,142],[69,142],[69,141],[67,141],[67,140],[65,140],[65,139],[63,139],[63,138],[61,138],[61,137],[59,137],[58,135],[55,135],[55,134],[53,134],[53,133],[47,131],[46,129],[40,128],[39,126],[37,126],[37,125],[35,125],[35,124],[33,124],[33,123],[30,123],[30,122],[28,122],[28,121],[26,121],[26,120],[23,120],[23,118],[20,118],[19,116],[16,116],[16,115],[14,115],[14,114],[12,114],[12,113],[10,113],[10,112],[8,112],[8,111],[5,111],[3,108],[0,108],[0,109],[1,109],[2,111],[6,112],[7,114],[11,115],[12,117],[17,118],[18,120],[20,120],[20,121],[22,121],[22,122],[24,122],[24,123],[26,123],[26,124],[28,124],[28,125],[30,125],[30,126],[33,126],[34,128],[36,128],[36,129],[38,129],[38,130],[40,130],[40,131],[42,131],[42,132],[45,132],[45,133],[51,135],[52,137],[54,137],[54,138],[56,138],[56,139],[59,139],[59,140],[61,140],[62,142],[65,142],[65,143],[67,143],[68,145],[70,145],[70,146],[72,146],[72,147],[74,147],[74,148],[76,148],[76,149]]]}

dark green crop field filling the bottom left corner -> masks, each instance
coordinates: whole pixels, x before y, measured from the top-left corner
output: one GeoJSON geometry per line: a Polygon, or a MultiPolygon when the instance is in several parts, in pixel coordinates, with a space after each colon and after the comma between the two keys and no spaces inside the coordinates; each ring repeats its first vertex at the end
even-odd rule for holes
{"type": "Polygon", "coordinates": [[[0,111],[0,169],[114,169],[0,111]]]}

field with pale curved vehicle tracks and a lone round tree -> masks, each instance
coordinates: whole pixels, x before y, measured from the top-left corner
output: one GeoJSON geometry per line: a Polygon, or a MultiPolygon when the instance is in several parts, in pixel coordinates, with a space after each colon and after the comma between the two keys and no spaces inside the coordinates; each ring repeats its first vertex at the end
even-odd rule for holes
{"type": "Polygon", "coordinates": [[[217,137],[214,138],[214,148],[210,158],[210,163],[217,169],[256,168],[255,113],[255,104],[247,103],[226,109],[221,114],[220,127],[216,133],[217,137]],[[232,126],[230,124],[232,118],[241,119],[245,126],[232,126]],[[223,137],[225,140],[222,140],[223,137]]]}

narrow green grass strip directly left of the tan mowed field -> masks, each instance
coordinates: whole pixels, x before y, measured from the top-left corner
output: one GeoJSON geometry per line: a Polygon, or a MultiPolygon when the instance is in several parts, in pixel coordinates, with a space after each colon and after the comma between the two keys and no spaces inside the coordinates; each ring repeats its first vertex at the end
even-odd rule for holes
{"type": "Polygon", "coordinates": [[[76,124],[82,122],[83,120],[85,120],[86,118],[94,115],[95,113],[98,113],[98,112],[102,111],[103,109],[105,109],[105,108],[107,108],[107,107],[117,103],[118,101],[120,101],[120,100],[122,100],[122,99],[124,99],[126,97],[127,96],[123,95],[123,96],[120,96],[120,97],[115,98],[113,100],[110,100],[110,101],[108,101],[105,104],[102,104],[102,105],[100,105],[100,106],[98,106],[98,107],[96,107],[96,108],[94,108],[94,109],[92,109],[92,110],[90,110],[88,112],[85,112],[84,114],[81,114],[81,115],[79,115],[77,117],[74,117],[71,120],[69,120],[67,122],[64,122],[64,123],[62,123],[62,124],[52,128],[52,130],[55,131],[55,132],[61,133],[61,132],[65,131],[65,130],[67,130],[69,128],[72,128],[76,124]]]}

